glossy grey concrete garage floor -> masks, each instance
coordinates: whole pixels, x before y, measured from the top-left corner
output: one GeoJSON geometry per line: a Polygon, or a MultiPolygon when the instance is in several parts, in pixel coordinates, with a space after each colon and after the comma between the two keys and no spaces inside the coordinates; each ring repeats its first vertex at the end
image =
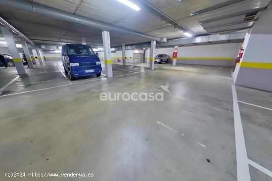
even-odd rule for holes
{"type": "MultiPolygon", "coordinates": [[[[6,87],[0,181],[15,180],[7,171],[93,173],[95,181],[236,181],[233,68],[136,65],[114,64],[113,78],[70,85],[61,62],[51,61],[6,87]],[[160,88],[167,84],[172,97],[160,88]],[[101,101],[102,92],[163,92],[164,101],[101,101]]],[[[15,68],[0,68],[3,76],[0,87],[17,77],[15,68]]],[[[238,100],[272,108],[272,92],[236,90],[238,100]]],[[[272,170],[272,111],[241,102],[239,108],[248,158],[272,170]]],[[[252,181],[272,181],[252,166],[250,174],[252,181]]]]}

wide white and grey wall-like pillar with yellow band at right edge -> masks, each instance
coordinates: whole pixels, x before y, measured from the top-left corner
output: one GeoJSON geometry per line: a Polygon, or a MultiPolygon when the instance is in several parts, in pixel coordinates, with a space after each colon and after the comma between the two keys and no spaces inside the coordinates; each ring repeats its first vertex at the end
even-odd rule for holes
{"type": "Polygon", "coordinates": [[[272,91],[272,9],[264,10],[245,37],[244,53],[233,73],[235,85],[272,91]]]}

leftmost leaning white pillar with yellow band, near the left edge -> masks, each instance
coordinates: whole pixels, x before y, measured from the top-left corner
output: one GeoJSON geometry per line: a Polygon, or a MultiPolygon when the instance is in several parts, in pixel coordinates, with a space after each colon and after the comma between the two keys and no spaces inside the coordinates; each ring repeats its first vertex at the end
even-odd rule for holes
{"type": "Polygon", "coordinates": [[[25,70],[24,65],[22,63],[22,59],[21,59],[18,49],[16,47],[12,33],[9,31],[9,29],[7,27],[0,26],[0,29],[2,31],[2,34],[4,36],[8,50],[12,56],[12,59],[13,59],[13,62],[14,62],[14,65],[16,67],[18,74],[25,75],[26,70],[25,70]]]}

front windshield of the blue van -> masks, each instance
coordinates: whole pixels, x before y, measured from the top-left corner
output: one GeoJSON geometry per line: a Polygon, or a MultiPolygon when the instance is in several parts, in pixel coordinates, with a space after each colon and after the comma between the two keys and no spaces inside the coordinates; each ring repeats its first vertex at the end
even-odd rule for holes
{"type": "Polygon", "coordinates": [[[95,55],[90,46],[87,45],[68,45],[67,46],[68,55],[95,55]]]}

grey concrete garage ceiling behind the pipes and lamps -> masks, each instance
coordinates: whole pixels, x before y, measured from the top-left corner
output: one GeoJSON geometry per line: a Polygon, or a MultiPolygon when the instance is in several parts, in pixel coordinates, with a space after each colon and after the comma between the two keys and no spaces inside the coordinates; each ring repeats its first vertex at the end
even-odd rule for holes
{"type": "MultiPolygon", "coordinates": [[[[150,9],[142,5],[140,0],[133,0],[135,4],[140,6],[140,11],[135,11],[117,0],[28,1],[101,22],[133,29],[156,37],[167,37],[168,39],[184,37],[182,30],[174,28],[173,25],[154,14],[150,9]]],[[[146,0],[146,2],[170,16],[196,35],[205,34],[207,32],[227,32],[228,30],[240,30],[245,27],[250,27],[254,22],[244,22],[229,25],[229,27],[226,26],[233,22],[243,21],[245,14],[204,24],[199,24],[199,22],[266,7],[270,2],[270,0],[244,0],[236,4],[191,16],[191,13],[194,11],[229,1],[232,0],[146,0]],[[223,27],[218,28],[218,25],[223,27]]],[[[3,6],[0,6],[0,16],[37,44],[61,45],[60,42],[79,43],[81,38],[85,37],[87,44],[102,45],[100,29],[72,24],[64,20],[3,6]]],[[[122,43],[137,44],[149,41],[144,38],[119,32],[110,32],[110,36],[112,46],[118,46],[122,43]]]]}

